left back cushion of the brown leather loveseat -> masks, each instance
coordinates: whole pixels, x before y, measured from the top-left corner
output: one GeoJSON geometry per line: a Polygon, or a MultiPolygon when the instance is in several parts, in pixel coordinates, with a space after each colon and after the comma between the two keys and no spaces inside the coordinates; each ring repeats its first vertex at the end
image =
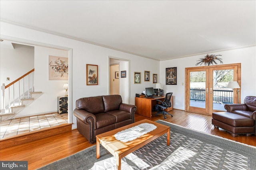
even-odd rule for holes
{"type": "Polygon", "coordinates": [[[76,109],[84,109],[93,114],[103,113],[104,105],[102,101],[102,96],[80,98],[76,100],[76,109]]]}

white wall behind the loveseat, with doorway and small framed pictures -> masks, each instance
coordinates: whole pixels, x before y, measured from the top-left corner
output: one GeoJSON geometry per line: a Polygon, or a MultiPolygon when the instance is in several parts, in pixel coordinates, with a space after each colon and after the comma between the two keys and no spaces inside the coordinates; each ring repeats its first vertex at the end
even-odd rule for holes
{"type": "MultiPolygon", "coordinates": [[[[143,75],[144,70],[150,71],[150,75],[152,75],[152,73],[159,74],[159,61],[76,41],[74,39],[35,31],[2,21],[0,25],[2,39],[19,39],[26,43],[30,42],[48,47],[72,49],[72,72],[71,75],[69,75],[72,78],[72,82],[69,84],[72,86],[72,96],[69,96],[69,101],[71,100],[69,102],[71,106],[71,109],[69,107],[70,113],[72,113],[72,110],[75,108],[76,100],[79,98],[108,95],[108,56],[118,56],[118,58],[130,61],[130,104],[134,104],[136,93],[141,93],[145,87],[155,87],[155,84],[152,83],[152,78],[150,78],[150,82],[144,82],[144,80],[142,80],[141,84],[134,84],[133,76],[134,72],[142,72],[143,75]],[[86,86],[86,64],[98,65],[97,86],[86,86]]],[[[144,76],[142,76],[142,78],[144,78],[144,76]]],[[[76,117],[72,117],[72,122],[74,123],[72,127],[75,128],[76,117]]]]}

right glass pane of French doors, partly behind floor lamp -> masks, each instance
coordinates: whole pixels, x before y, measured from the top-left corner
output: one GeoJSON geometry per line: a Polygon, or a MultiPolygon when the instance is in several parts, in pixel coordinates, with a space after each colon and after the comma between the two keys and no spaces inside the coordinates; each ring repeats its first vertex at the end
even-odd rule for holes
{"type": "Polygon", "coordinates": [[[233,103],[233,90],[226,88],[226,86],[229,81],[234,80],[234,69],[213,70],[212,77],[212,108],[213,110],[226,111],[226,109],[224,109],[224,105],[227,103],[233,103]]]}

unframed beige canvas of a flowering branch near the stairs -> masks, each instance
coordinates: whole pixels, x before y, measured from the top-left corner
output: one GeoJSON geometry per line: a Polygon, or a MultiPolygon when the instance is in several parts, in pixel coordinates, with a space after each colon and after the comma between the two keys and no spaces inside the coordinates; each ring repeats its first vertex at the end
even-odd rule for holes
{"type": "Polygon", "coordinates": [[[68,80],[68,58],[49,55],[49,80],[68,80]]]}

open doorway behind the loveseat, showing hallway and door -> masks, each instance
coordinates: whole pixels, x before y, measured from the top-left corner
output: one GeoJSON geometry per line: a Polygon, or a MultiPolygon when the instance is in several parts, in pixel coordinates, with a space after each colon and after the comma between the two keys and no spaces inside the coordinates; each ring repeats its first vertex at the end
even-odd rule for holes
{"type": "Polygon", "coordinates": [[[130,61],[116,57],[109,57],[109,88],[108,94],[119,94],[122,102],[130,103],[130,61]],[[121,76],[125,72],[125,76],[121,76]]]}

